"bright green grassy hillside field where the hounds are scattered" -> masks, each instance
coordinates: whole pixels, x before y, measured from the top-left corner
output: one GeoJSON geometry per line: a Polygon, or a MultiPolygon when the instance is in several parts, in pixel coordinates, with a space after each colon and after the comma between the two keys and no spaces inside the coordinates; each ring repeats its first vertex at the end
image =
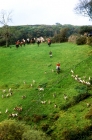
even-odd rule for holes
{"type": "Polygon", "coordinates": [[[61,43],[51,47],[35,44],[18,49],[15,46],[0,48],[0,121],[9,119],[9,114],[17,112],[14,107],[18,106],[23,110],[16,119],[35,125],[53,140],[72,140],[74,136],[80,140],[83,139],[81,135],[91,140],[88,132],[92,125],[92,85],[74,80],[71,69],[85,81],[92,78],[91,47],[61,43]],[[61,64],[60,74],[56,73],[57,62],[61,64]],[[44,91],[39,91],[39,86],[44,91]],[[12,95],[6,97],[9,88],[12,95]]]}

